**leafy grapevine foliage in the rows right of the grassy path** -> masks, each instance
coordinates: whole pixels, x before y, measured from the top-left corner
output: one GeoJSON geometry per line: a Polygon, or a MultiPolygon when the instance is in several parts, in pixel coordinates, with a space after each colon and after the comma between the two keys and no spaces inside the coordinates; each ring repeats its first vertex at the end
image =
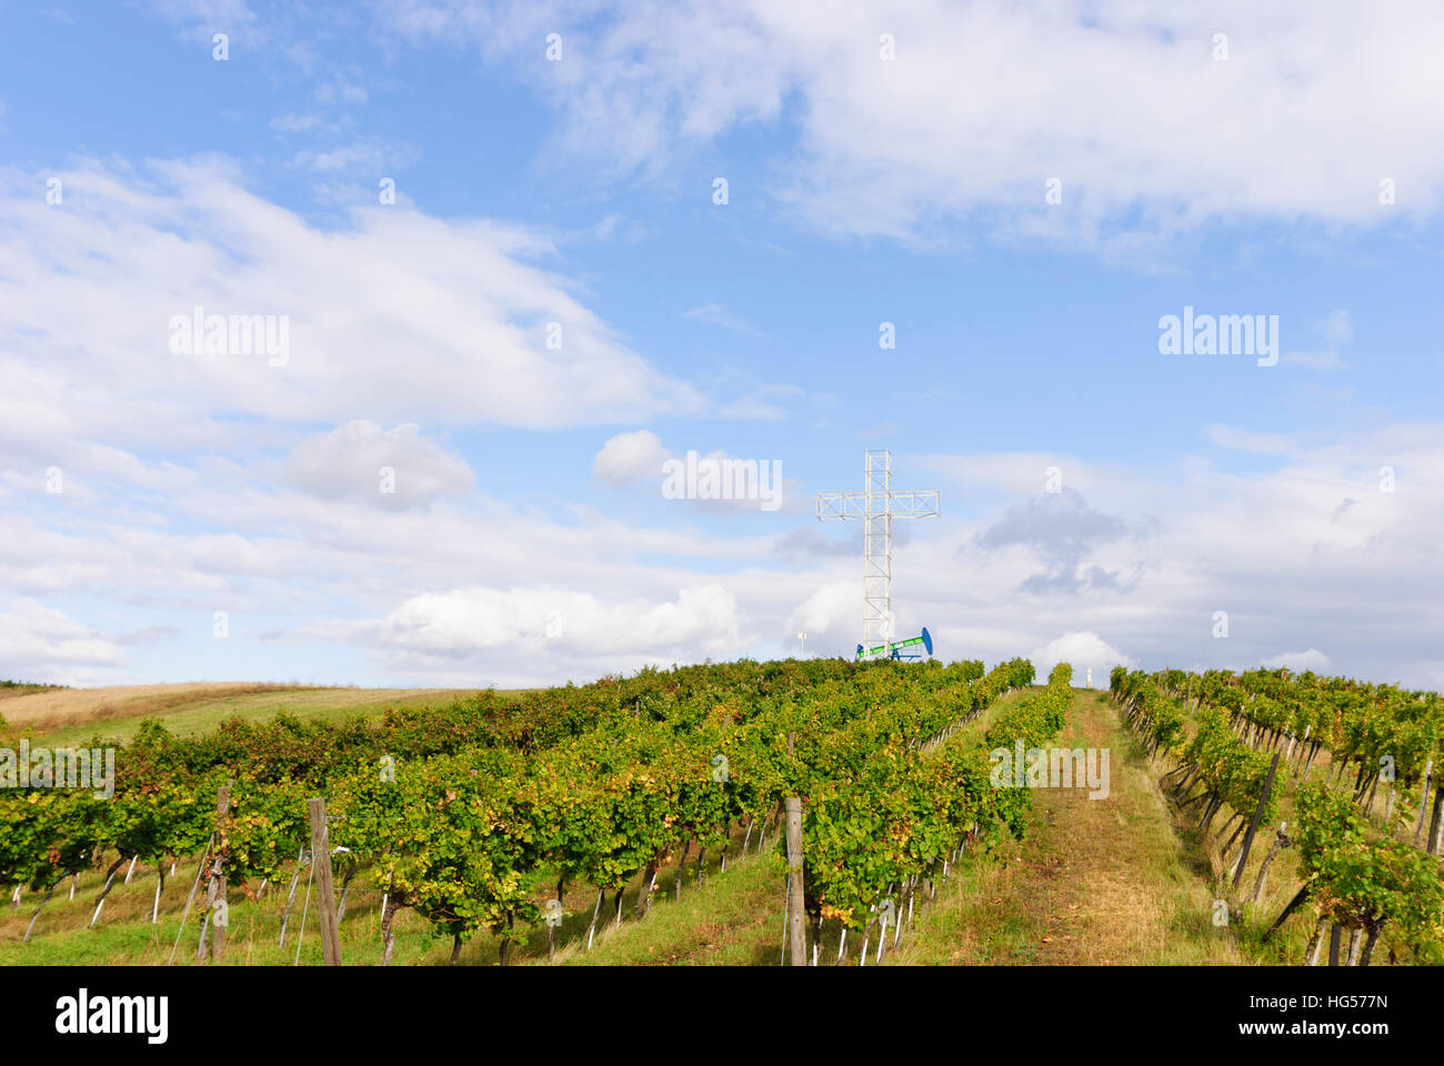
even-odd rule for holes
{"type": "MultiPolygon", "coordinates": [[[[1430,750],[1430,737],[1435,735],[1430,702],[1388,695],[1365,702],[1352,695],[1337,701],[1317,699],[1311,696],[1353,693],[1356,686],[1313,676],[1297,690],[1288,688],[1287,676],[1275,672],[1255,672],[1243,679],[1229,672],[1200,677],[1170,670],[1149,676],[1115,667],[1110,689],[1149,753],[1180,760],[1178,768],[1164,780],[1177,779],[1174,796],[1180,809],[1203,805],[1197,822],[1203,832],[1220,806],[1233,809],[1239,829],[1223,845],[1225,858],[1248,819],[1256,816],[1266,825],[1278,818],[1289,771],[1298,774],[1301,784],[1295,790],[1297,823],[1291,842],[1298,845],[1304,884],[1269,935],[1305,901],[1313,901],[1318,914],[1305,949],[1310,963],[1318,961],[1328,926],[1336,929],[1334,952],[1337,936],[1349,935],[1350,946],[1341,959],[1346,965],[1367,965],[1380,936],[1389,939],[1391,958],[1408,952],[1419,962],[1444,961],[1444,878],[1438,861],[1393,839],[1389,832],[1380,833],[1360,816],[1357,800],[1367,789],[1363,774],[1347,790],[1333,787],[1330,780],[1307,783],[1321,747],[1334,751],[1336,744],[1341,745],[1330,774],[1333,781],[1340,781],[1350,760],[1386,754],[1373,747],[1383,737],[1411,738],[1418,744],[1412,751],[1401,748],[1405,753],[1401,764],[1414,768],[1421,753],[1430,750]],[[1248,695],[1251,689],[1255,690],[1252,696],[1248,695]],[[1191,722],[1190,708],[1194,711],[1191,722]],[[1388,714],[1399,716],[1393,725],[1383,722],[1388,714]],[[1354,728],[1365,721],[1372,722],[1369,729],[1354,728]],[[1367,744],[1360,742],[1365,735],[1372,738],[1367,744]],[[1279,768],[1261,806],[1264,781],[1275,757],[1279,768]],[[1199,784],[1200,792],[1188,796],[1199,784]]],[[[1226,829],[1227,825],[1220,838],[1226,829]]]]}

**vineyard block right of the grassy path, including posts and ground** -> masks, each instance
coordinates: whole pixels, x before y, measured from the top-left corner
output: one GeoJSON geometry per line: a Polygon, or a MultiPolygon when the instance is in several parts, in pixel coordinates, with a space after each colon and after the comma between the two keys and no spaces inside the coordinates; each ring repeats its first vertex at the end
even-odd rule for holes
{"type": "Polygon", "coordinates": [[[1301,884],[1264,940],[1311,907],[1300,962],[1318,965],[1326,936],[1330,965],[1369,965],[1380,942],[1391,962],[1444,962],[1437,693],[1288,670],[1149,676],[1122,667],[1110,689],[1149,755],[1177,763],[1162,783],[1193,829],[1207,841],[1229,812],[1213,844],[1235,903],[1256,901],[1272,859],[1297,849],[1301,884]],[[1249,891],[1251,844],[1272,823],[1274,845],[1249,891]]]}

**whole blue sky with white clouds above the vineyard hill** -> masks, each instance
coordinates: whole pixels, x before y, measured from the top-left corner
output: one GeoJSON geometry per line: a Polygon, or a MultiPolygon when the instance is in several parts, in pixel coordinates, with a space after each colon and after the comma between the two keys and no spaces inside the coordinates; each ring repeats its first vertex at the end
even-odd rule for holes
{"type": "Polygon", "coordinates": [[[0,675],[842,653],[813,494],[888,446],[944,657],[1438,688],[1440,12],[1086,7],[0,0],[0,675]],[[664,498],[689,449],[784,506],[664,498]]]}

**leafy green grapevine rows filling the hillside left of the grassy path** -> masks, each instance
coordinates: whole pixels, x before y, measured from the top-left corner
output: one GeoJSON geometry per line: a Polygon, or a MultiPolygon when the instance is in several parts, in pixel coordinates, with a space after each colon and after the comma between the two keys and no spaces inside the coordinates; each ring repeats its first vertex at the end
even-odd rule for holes
{"type": "MultiPolygon", "coordinates": [[[[250,894],[256,880],[280,881],[295,868],[308,842],[305,799],[325,792],[332,842],[348,849],[352,872],[364,867],[386,893],[387,936],[396,910],[413,907],[458,945],[479,929],[497,933],[505,959],[540,917],[543,877],[557,898],[567,884],[595,887],[595,923],[606,893],[619,909],[638,872],[650,888],[661,864],[723,844],[734,825],[761,826],[784,794],[879,784],[892,767],[888,780],[907,783],[923,812],[908,822],[926,831],[908,845],[913,865],[868,867],[872,851],[859,838],[856,884],[825,885],[819,872],[810,894],[819,914],[829,906],[856,922],[885,872],[911,877],[956,851],[957,826],[1019,823],[1006,805],[996,816],[983,810],[976,763],[943,774],[941,735],[1031,682],[1032,667],[1014,660],[980,675],[976,662],[738,663],[510,702],[484,693],[435,716],[396,714],[378,725],[231,722],[202,740],[152,725],[121,753],[114,799],[0,796],[0,883],[48,894],[103,855],[117,855],[114,872],[127,857],[163,870],[163,857],[205,849],[214,871],[250,894]],[[217,820],[222,783],[231,805],[217,820]],[[940,822],[924,807],[949,783],[967,799],[940,822]],[[944,823],[952,835],[931,839],[944,823]]],[[[814,854],[817,846],[814,835],[814,854]]]]}

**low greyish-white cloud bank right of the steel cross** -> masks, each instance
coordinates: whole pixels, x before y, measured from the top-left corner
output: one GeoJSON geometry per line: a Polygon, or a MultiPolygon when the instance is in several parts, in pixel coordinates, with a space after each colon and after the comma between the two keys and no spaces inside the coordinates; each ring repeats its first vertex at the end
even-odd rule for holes
{"type": "MultiPolygon", "coordinates": [[[[1252,441],[1255,432],[1220,436],[1252,441]]],[[[911,604],[949,656],[992,660],[1057,633],[1095,631],[1148,669],[1246,670],[1279,649],[1326,647],[1333,672],[1444,686],[1444,572],[1432,529],[1444,508],[1444,426],[1281,435],[1266,451],[1278,461],[1248,472],[1187,455],[1100,482],[1105,514],[1129,534],[1090,540],[1080,566],[1126,575],[1113,586],[1035,588],[1019,601],[1019,586],[1038,573],[1030,537],[979,543],[1008,517],[1004,506],[980,520],[944,517],[956,533],[895,553],[894,601],[911,604]],[[1385,465],[1393,491],[1380,482],[1385,465]],[[1229,615],[1227,638],[1213,636],[1216,611],[1229,615]]],[[[1027,514],[1025,504],[1015,507],[1027,514]]]]}

